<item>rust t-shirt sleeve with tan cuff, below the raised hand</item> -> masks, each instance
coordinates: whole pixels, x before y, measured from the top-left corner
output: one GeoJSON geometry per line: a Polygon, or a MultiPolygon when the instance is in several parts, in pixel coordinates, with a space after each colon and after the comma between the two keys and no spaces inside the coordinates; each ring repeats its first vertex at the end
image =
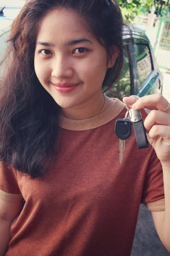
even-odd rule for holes
{"type": "Polygon", "coordinates": [[[142,192],[142,201],[150,211],[164,211],[164,181],[161,162],[152,148],[142,192]]]}

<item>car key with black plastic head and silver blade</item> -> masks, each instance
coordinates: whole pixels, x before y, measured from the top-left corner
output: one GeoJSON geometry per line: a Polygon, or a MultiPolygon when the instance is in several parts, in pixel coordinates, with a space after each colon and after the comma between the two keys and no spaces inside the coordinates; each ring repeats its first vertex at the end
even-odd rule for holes
{"type": "Polygon", "coordinates": [[[132,123],[130,119],[117,119],[115,125],[115,134],[119,138],[119,161],[123,161],[123,153],[125,151],[125,140],[130,137],[132,133],[132,123]]]}

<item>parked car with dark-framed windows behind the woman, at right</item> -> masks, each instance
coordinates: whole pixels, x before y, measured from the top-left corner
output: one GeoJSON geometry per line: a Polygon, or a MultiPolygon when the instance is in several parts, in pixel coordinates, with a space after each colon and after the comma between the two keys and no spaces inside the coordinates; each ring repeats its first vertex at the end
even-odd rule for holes
{"type": "Polygon", "coordinates": [[[133,41],[124,31],[125,64],[119,80],[108,96],[162,93],[163,75],[159,70],[153,48],[143,29],[133,26],[133,41]]]}

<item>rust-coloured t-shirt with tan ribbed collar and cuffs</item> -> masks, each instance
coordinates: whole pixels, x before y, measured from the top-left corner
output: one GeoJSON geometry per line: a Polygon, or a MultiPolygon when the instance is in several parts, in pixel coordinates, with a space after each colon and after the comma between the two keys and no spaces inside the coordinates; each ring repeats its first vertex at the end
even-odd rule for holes
{"type": "Polygon", "coordinates": [[[125,105],[118,99],[85,120],[63,118],[60,151],[44,180],[0,168],[0,197],[26,200],[11,226],[6,256],[130,256],[140,203],[164,210],[161,163],[134,132],[119,163],[114,133],[125,105]]]}

